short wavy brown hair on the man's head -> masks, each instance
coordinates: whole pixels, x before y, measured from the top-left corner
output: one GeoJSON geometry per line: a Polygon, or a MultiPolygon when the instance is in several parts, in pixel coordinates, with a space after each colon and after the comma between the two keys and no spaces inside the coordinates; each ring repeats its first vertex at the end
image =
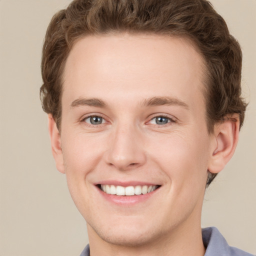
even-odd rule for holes
{"type": "MultiPolygon", "coordinates": [[[[45,35],[40,88],[42,108],[60,129],[61,84],[65,60],[74,42],[88,34],[111,32],[185,36],[203,56],[208,131],[232,114],[243,123],[241,60],[238,42],[207,0],[73,0],[51,19],[45,35]]],[[[208,185],[216,174],[209,173],[208,185]]]]}

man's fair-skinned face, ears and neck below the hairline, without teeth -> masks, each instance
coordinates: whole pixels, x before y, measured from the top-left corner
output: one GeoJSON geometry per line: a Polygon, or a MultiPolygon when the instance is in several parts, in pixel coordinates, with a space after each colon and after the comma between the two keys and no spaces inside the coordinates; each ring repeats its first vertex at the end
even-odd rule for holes
{"type": "Polygon", "coordinates": [[[112,34],[74,44],[61,134],[51,114],[48,126],[56,167],[87,222],[91,256],[204,254],[207,170],[217,173],[231,158],[239,122],[226,119],[208,133],[203,70],[184,38],[112,34]],[[157,188],[110,195],[100,184],[157,188]]]}

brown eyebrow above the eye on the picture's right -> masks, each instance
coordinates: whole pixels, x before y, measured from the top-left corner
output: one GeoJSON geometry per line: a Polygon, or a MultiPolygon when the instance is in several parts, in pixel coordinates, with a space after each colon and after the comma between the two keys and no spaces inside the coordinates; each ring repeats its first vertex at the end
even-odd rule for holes
{"type": "Polygon", "coordinates": [[[152,97],[145,99],[142,106],[160,106],[160,105],[178,105],[184,108],[189,108],[188,105],[180,99],[172,97],[152,97]]]}

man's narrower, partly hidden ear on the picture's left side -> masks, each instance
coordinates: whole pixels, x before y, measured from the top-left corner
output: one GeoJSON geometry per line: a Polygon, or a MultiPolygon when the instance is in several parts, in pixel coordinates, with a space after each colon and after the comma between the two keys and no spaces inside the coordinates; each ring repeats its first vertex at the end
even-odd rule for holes
{"type": "Polygon", "coordinates": [[[51,152],[55,159],[56,168],[61,173],[65,173],[61,142],[60,142],[60,133],[58,131],[56,122],[52,117],[52,114],[48,114],[48,131],[50,135],[51,152]]]}

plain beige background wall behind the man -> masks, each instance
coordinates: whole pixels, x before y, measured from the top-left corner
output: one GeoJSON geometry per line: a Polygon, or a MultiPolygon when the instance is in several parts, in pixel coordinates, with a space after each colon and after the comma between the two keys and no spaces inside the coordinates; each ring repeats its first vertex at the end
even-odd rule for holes
{"type": "MultiPolygon", "coordinates": [[[[0,0],[0,255],[79,255],[85,221],[55,169],[39,101],[51,16],[69,0],[0,0]]],[[[256,254],[256,0],[212,0],[243,50],[250,101],[237,150],[205,193],[202,226],[256,254]]]]}

